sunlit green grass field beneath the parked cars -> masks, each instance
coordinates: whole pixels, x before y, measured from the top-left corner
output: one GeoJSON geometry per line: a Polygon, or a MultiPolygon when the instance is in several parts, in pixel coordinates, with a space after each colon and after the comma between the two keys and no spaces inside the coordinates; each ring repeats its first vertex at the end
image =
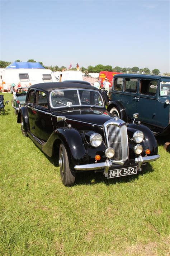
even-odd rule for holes
{"type": "Polygon", "coordinates": [[[0,255],[169,255],[170,153],[135,177],[60,180],[50,159],[23,137],[4,93],[0,115],[0,255]]]}

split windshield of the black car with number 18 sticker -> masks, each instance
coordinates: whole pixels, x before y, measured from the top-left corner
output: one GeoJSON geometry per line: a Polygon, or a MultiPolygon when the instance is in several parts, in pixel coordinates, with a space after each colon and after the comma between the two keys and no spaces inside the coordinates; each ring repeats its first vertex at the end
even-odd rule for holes
{"type": "Polygon", "coordinates": [[[50,103],[53,108],[77,105],[104,107],[101,94],[98,91],[86,89],[60,89],[52,91],[50,103]]]}

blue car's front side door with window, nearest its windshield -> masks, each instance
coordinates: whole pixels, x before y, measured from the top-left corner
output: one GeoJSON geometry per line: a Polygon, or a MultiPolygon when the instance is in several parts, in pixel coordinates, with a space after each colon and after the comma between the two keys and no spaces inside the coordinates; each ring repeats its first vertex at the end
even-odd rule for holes
{"type": "Polygon", "coordinates": [[[155,125],[157,84],[156,79],[140,79],[139,81],[139,90],[135,99],[136,112],[139,113],[138,119],[146,124],[155,125]],[[151,85],[155,88],[151,88],[151,85]]]}

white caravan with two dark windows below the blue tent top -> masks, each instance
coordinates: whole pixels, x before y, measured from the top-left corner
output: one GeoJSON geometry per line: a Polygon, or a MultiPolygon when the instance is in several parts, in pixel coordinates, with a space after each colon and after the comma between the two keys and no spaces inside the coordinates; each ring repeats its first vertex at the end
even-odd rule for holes
{"type": "Polygon", "coordinates": [[[4,69],[2,72],[3,89],[9,91],[11,84],[20,82],[21,86],[38,83],[56,82],[56,77],[50,69],[4,69]]]}

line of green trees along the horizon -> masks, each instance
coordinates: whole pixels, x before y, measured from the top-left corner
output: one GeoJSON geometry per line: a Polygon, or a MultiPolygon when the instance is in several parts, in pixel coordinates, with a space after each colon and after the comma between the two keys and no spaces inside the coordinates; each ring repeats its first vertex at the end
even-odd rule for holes
{"type": "MultiPolygon", "coordinates": [[[[19,59],[17,59],[16,61],[20,62],[19,59]]],[[[36,62],[34,61],[34,59],[28,59],[27,62],[36,62]]],[[[0,68],[5,68],[8,65],[10,65],[12,62],[8,62],[8,61],[0,61],[0,68]]],[[[51,69],[53,72],[55,71],[65,71],[67,70],[67,67],[65,66],[61,66],[58,67],[57,65],[55,66],[45,66],[43,64],[42,61],[39,61],[39,63],[45,68],[45,69],[51,69]]],[[[77,70],[76,67],[72,67],[70,70],[77,70]]],[[[96,66],[88,66],[87,68],[85,67],[81,67],[80,70],[85,73],[100,73],[100,71],[110,71],[110,72],[121,72],[121,73],[139,73],[139,74],[153,74],[153,75],[159,75],[160,71],[159,69],[153,69],[152,71],[150,69],[148,69],[148,67],[144,67],[142,69],[140,69],[139,67],[119,67],[119,66],[115,66],[112,67],[110,65],[104,66],[104,65],[96,65],[96,66]]],[[[164,75],[170,75],[169,73],[164,73],[164,75]]]]}

